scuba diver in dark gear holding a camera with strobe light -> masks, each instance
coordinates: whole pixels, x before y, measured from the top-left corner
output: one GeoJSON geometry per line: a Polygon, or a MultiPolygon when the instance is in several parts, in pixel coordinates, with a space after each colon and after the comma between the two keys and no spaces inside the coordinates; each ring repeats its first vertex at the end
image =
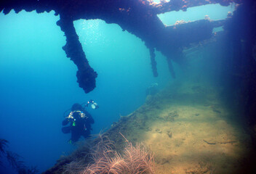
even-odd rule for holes
{"type": "MultiPolygon", "coordinates": [[[[93,100],[87,101],[85,107],[88,107],[91,104],[92,109],[97,109],[97,103],[93,100]]],[[[70,110],[70,109],[68,109],[70,110]]],[[[66,112],[64,112],[65,115],[66,112]]],[[[79,141],[81,136],[87,138],[92,130],[91,125],[95,123],[93,120],[92,115],[87,112],[81,104],[73,104],[71,107],[71,112],[65,117],[63,120],[62,125],[68,125],[62,128],[63,133],[71,133],[71,139],[68,141],[70,144],[79,141]],[[68,125],[70,123],[70,125],[68,125]]]]}

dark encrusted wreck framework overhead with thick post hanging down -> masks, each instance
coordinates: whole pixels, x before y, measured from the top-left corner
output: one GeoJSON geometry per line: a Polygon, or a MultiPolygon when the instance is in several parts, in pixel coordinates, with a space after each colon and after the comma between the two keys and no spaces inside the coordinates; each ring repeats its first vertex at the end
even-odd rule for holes
{"type": "Polygon", "coordinates": [[[150,49],[155,76],[154,49],[167,57],[169,70],[175,77],[172,60],[182,62],[182,47],[211,37],[215,25],[212,21],[200,20],[166,27],[157,14],[204,4],[228,5],[231,1],[241,0],[171,0],[161,1],[158,5],[146,0],[9,0],[0,2],[0,12],[4,10],[4,14],[8,14],[12,9],[15,12],[25,9],[27,12],[36,10],[38,13],[54,10],[56,15],[60,14],[57,25],[64,31],[67,41],[63,49],[78,67],[76,76],[79,86],[88,93],[95,88],[97,73],[89,66],[81,48],[79,37],[73,28],[74,20],[101,19],[120,25],[123,30],[141,38],[150,49]]]}

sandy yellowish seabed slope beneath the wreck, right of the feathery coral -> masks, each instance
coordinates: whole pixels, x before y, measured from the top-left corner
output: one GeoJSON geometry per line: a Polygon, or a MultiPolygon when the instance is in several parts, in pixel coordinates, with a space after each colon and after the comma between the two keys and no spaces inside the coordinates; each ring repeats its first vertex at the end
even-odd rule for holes
{"type": "Polygon", "coordinates": [[[221,101],[220,91],[176,84],[148,96],[109,132],[144,144],[154,154],[156,174],[243,173],[252,142],[234,119],[238,113],[221,101]]]}

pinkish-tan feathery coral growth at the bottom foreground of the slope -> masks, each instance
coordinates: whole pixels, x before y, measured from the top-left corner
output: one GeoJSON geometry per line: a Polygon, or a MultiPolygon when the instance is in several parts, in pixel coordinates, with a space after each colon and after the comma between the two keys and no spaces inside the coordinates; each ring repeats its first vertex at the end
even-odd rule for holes
{"type": "Polygon", "coordinates": [[[83,174],[125,174],[153,173],[153,155],[146,152],[139,144],[132,146],[126,139],[126,147],[122,154],[116,152],[113,142],[105,135],[100,135],[97,144],[89,154],[92,162],[71,162],[65,165],[65,173],[83,174]]]}

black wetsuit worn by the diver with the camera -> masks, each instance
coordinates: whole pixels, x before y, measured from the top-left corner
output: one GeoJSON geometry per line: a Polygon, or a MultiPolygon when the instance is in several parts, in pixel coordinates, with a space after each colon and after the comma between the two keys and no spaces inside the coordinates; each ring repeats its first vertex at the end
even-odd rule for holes
{"type": "Polygon", "coordinates": [[[92,130],[91,125],[95,123],[95,121],[92,118],[92,115],[89,114],[89,112],[83,110],[81,111],[85,114],[85,117],[81,117],[79,112],[73,112],[73,118],[65,117],[65,120],[63,120],[63,125],[68,125],[68,123],[71,123],[67,127],[63,127],[63,133],[71,133],[71,141],[76,142],[79,141],[79,138],[81,136],[84,136],[84,138],[87,138],[92,130]]]}

